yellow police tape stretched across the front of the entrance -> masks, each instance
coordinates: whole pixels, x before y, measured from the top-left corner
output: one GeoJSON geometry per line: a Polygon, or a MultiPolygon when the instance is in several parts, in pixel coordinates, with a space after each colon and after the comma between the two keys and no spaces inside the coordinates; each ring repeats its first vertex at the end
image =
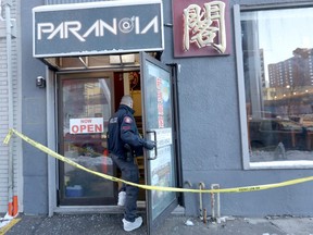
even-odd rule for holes
{"type": "Polygon", "coordinates": [[[121,182],[121,183],[125,183],[125,184],[133,185],[133,186],[136,186],[139,188],[142,188],[142,189],[148,189],[148,190],[176,191],[176,193],[201,193],[201,194],[205,194],[205,193],[211,193],[211,194],[215,194],[215,193],[247,193],[247,191],[256,191],[256,190],[265,190],[265,189],[272,189],[272,188],[277,188],[277,187],[285,187],[285,186],[289,186],[289,185],[295,185],[295,184],[300,184],[300,183],[313,181],[313,176],[308,176],[308,177],[296,178],[296,180],[290,180],[290,181],[285,181],[285,182],[280,182],[280,183],[274,183],[274,184],[254,185],[254,186],[246,186],[246,187],[234,187],[234,188],[218,188],[218,189],[192,189],[192,188],[176,188],[176,187],[165,187],[165,186],[155,186],[155,185],[141,185],[141,184],[127,182],[127,181],[124,181],[122,178],[114,177],[112,175],[107,175],[107,174],[87,169],[87,168],[72,161],[71,159],[67,159],[67,158],[52,151],[51,149],[47,148],[46,146],[30,139],[29,137],[23,135],[22,133],[15,131],[13,128],[9,131],[7,137],[3,140],[3,144],[5,144],[5,145],[9,144],[13,133],[16,136],[18,136],[20,138],[22,138],[23,140],[25,140],[26,143],[28,143],[29,145],[34,146],[35,148],[46,152],[47,154],[49,154],[49,156],[51,156],[51,157],[53,157],[60,161],[66,162],[67,164],[72,165],[72,166],[75,166],[75,168],[80,169],[83,171],[98,175],[98,176],[103,177],[103,178],[109,180],[109,181],[121,182]]]}

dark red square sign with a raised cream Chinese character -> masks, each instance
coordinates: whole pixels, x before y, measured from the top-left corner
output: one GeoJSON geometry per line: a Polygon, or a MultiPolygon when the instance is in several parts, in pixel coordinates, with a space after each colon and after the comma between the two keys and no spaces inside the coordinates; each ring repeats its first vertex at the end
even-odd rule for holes
{"type": "Polygon", "coordinates": [[[175,57],[229,54],[228,1],[174,0],[175,57]]]}

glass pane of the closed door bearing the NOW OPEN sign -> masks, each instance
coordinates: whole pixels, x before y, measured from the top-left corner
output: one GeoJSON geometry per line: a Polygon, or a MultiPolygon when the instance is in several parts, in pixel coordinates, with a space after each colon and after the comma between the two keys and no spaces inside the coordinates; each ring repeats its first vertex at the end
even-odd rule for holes
{"type": "MultiPolygon", "coordinates": [[[[112,110],[112,81],[86,74],[60,75],[58,81],[61,154],[92,171],[113,175],[105,135],[112,110]]],[[[60,206],[115,203],[117,186],[114,182],[63,162],[60,162],[59,175],[60,206]]]]}

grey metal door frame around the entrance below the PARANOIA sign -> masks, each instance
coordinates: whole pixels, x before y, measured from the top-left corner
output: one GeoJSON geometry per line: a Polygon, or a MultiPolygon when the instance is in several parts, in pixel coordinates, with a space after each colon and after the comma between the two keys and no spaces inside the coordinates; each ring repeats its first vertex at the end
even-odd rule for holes
{"type": "MultiPolygon", "coordinates": [[[[160,62],[160,61],[159,61],[160,62]]],[[[180,138],[179,138],[179,102],[178,102],[178,71],[179,65],[173,63],[167,64],[172,67],[173,72],[173,103],[174,103],[174,126],[175,126],[175,147],[176,154],[179,156],[176,158],[176,184],[178,187],[184,185],[183,181],[183,172],[181,172],[181,158],[180,158],[180,138]]],[[[128,66],[128,67],[103,67],[103,69],[91,69],[91,70],[64,70],[64,71],[54,71],[47,67],[47,131],[48,131],[48,147],[54,151],[59,150],[59,140],[58,140],[58,76],[63,74],[85,74],[85,73],[97,73],[97,72],[127,72],[127,71],[139,71],[139,65],[128,66]]],[[[83,75],[84,76],[84,75],[83,75]]],[[[114,96],[114,94],[113,94],[114,96]]],[[[116,209],[112,209],[112,207],[108,206],[89,206],[89,207],[80,207],[80,206],[71,206],[63,207],[58,203],[58,195],[55,194],[59,190],[59,168],[58,160],[54,158],[48,158],[48,184],[49,184],[49,215],[53,215],[55,212],[116,212],[116,209]]],[[[184,194],[178,194],[178,202],[180,206],[184,206],[184,194]]],[[[148,200],[148,198],[146,198],[148,200]]],[[[121,210],[121,213],[123,211],[121,210]]],[[[148,213],[146,211],[146,213],[148,213]]]]}

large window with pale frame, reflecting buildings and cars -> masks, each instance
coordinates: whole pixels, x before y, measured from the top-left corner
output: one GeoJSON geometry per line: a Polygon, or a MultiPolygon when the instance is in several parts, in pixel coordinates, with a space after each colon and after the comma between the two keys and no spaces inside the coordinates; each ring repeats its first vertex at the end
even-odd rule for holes
{"type": "Polygon", "coordinates": [[[234,9],[245,165],[313,166],[313,5],[234,9]]]}

